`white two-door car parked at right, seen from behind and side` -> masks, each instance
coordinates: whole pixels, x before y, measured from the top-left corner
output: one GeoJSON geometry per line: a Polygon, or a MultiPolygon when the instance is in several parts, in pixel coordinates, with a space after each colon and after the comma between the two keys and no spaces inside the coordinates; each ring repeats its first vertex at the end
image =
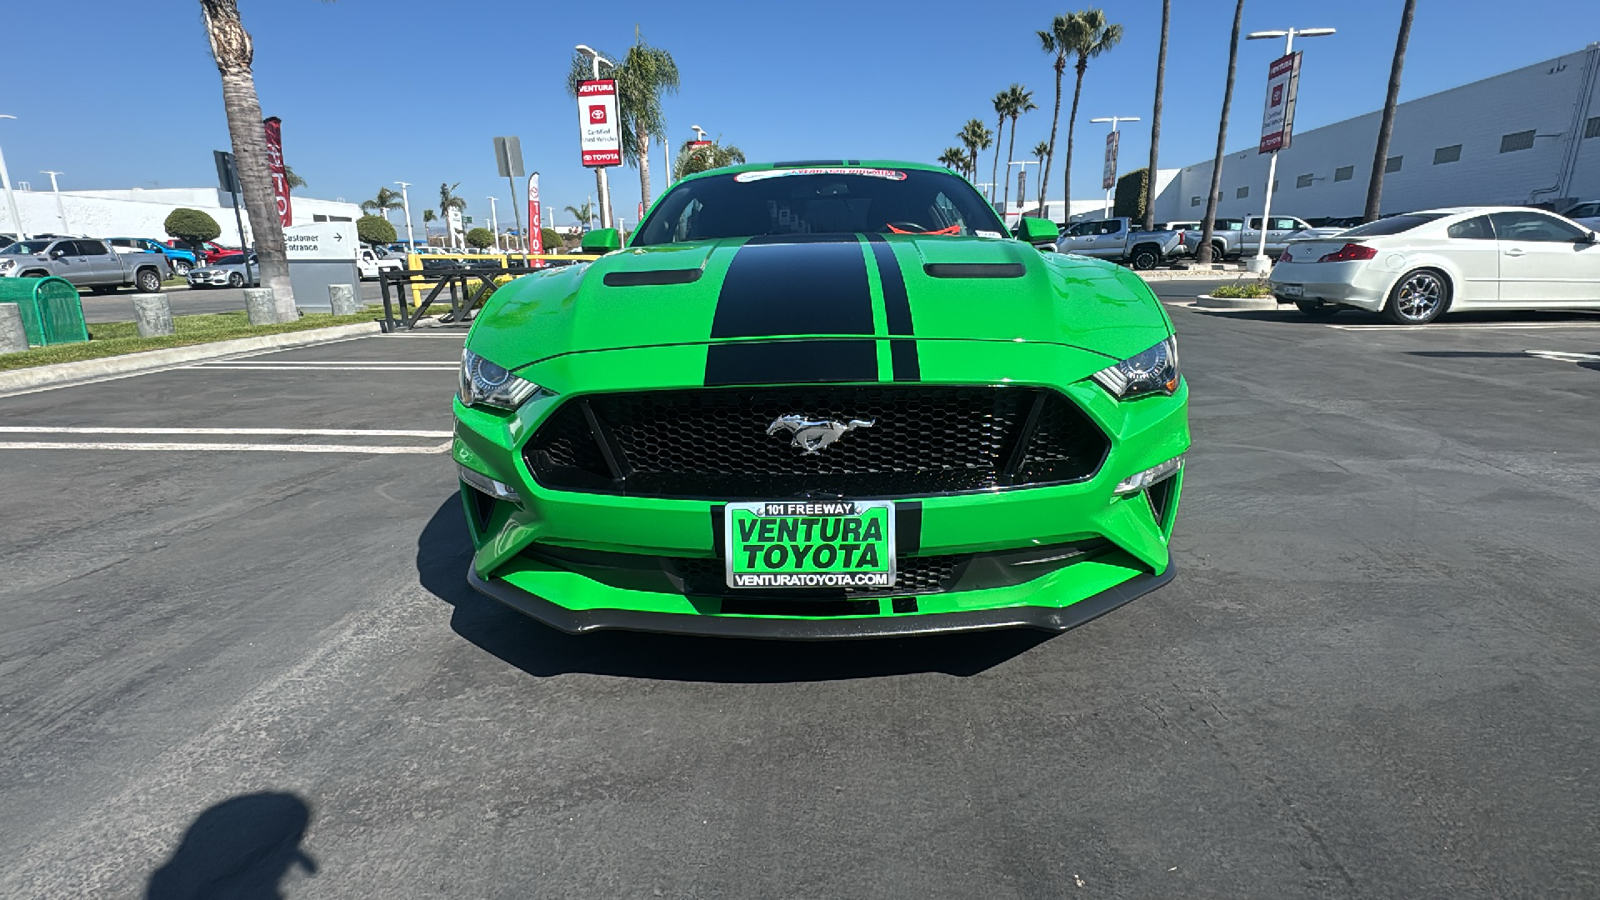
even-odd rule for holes
{"type": "Polygon", "coordinates": [[[1290,242],[1272,267],[1280,303],[1426,325],[1459,309],[1600,309],[1600,235],[1520,207],[1424,210],[1290,242]]]}

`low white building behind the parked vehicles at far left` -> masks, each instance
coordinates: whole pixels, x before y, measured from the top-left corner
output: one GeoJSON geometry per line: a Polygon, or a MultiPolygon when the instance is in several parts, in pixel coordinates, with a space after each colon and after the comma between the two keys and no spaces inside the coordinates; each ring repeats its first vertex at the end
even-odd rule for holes
{"type": "MultiPolygon", "coordinates": [[[[240,247],[238,226],[234,218],[230,195],[216,187],[162,187],[142,191],[62,191],[61,207],[67,223],[62,226],[56,195],[50,191],[14,191],[18,210],[22,213],[22,229],[29,234],[86,234],[90,237],[154,237],[166,240],[166,216],[179,207],[203,210],[222,227],[218,243],[240,247]]],[[[5,194],[0,192],[0,231],[11,231],[11,213],[3,210],[5,194]]],[[[310,224],[315,216],[339,216],[357,219],[362,215],[355,203],[293,199],[294,223],[310,224]]],[[[250,229],[250,213],[245,213],[250,229]]]]}

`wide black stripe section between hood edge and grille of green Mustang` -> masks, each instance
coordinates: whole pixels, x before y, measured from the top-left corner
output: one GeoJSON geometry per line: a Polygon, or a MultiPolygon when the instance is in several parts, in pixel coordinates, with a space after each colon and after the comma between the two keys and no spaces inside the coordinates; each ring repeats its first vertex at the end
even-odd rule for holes
{"type": "Polygon", "coordinates": [[[877,380],[877,341],[741,341],[706,348],[707,388],[877,380]]]}

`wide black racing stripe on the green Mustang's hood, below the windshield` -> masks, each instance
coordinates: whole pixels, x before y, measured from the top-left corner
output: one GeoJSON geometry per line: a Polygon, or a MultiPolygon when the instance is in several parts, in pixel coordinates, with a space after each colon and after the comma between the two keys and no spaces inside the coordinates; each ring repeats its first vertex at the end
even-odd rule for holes
{"type": "Polygon", "coordinates": [[[806,240],[768,235],[734,251],[712,338],[872,333],[867,261],[856,235],[797,237],[806,240]]]}

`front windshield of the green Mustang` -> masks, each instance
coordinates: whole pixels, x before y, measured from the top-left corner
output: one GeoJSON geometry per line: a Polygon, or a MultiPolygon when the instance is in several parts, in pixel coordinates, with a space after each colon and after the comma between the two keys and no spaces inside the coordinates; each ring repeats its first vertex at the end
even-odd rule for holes
{"type": "Polygon", "coordinates": [[[763,234],[941,234],[1005,237],[994,208],[944,171],[774,168],[685,181],[634,234],[632,247],[763,234]]]}

